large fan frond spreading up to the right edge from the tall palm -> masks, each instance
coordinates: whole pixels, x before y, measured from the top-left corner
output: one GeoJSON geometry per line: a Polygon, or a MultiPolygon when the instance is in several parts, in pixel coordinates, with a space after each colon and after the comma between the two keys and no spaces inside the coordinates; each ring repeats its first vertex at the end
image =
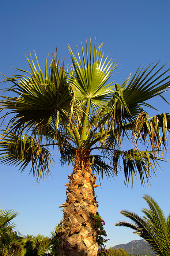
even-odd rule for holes
{"type": "MultiPolygon", "coordinates": [[[[133,122],[142,112],[141,106],[146,105],[147,107],[152,107],[146,102],[148,99],[156,95],[161,95],[169,90],[170,76],[165,77],[165,74],[170,69],[159,75],[159,72],[162,71],[165,65],[155,72],[157,65],[158,63],[152,67],[151,64],[144,71],[138,68],[131,80],[129,76],[121,86],[115,84],[116,90],[114,91],[113,97],[107,103],[107,107],[103,106],[103,111],[108,113],[109,124],[113,128],[118,124],[121,126],[121,124],[125,125],[133,122]],[[153,72],[155,73],[152,74],[153,72]],[[164,83],[165,81],[167,82],[164,83]]],[[[163,121],[163,116],[159,116],[158,118],[160,119],[159,122],[162,123],[161,118],[163,121]]],[[[164,124],[165,122],[163,121],[164,124]]],[[[163,135],[165,137],[165,133],[163,135]]],[[[164,139],[166,140],[166,137],[164,139]]]]}

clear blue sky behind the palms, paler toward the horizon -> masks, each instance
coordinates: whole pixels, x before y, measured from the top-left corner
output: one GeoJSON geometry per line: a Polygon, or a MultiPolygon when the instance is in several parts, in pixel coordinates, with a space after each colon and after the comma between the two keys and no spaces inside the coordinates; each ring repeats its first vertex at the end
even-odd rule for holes
{"type": "MultiPolygon", "coordinates": [[[[94,42],[95,37],[97,43],[104,42],[104,52],[118,60],[120,68],[113,80],[119,84],[130,72],[134,74],[140,64],[145,66],[160,59],[162,64],[170,61],[168,0],[6,0],[1,2],[0,10],[0,72],[7,76],[13,74],[12,67],[28,69],[22,53],[35,50],[42,66],[48,52],[55,52],[57,46],[58,56],[69,64],[67,44],[75,50],[75,45],[80,48],[80,42],[85,44],[90,38],[94,42]]],[[[165,96],[170,101],[170,93],[165,96]]],[[[159,98],[151,103],[162,112],[170,112],[170,106],[159,98]]],[[[55,157],[56,165],[51,168],[53,179],[42,182],[40,187],[28,176],[29,168],[20,174],[17,167],[0,166],[0,207],[19,211],[15,221],[22,234],[49,236],[62,218],[58,206],[65,202],[64,185],[72,167],[61,167],[57,153],[55,157]]],[[[96,195],[110,239],[107,247],[140,239],[132,230],[114,227],[114,223],[125,219],[119,214],[122,209],[140,214],[141,207],[146,206],[144,193],[154,197],[166,216],[169,214],[170,164],[161,166],[161,173],[158,169],[158,176],[152,179],[149,188],[141,189],[139,181],[133,189],[124,187],[121,173],[112,182],[106,178],[101,181],[102,187],[96,189],[96,195]]]]}

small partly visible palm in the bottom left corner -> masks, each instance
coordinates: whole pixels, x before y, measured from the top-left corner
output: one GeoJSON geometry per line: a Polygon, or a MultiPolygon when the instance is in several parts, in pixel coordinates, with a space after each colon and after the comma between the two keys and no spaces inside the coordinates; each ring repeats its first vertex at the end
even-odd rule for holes
{"type": "Polygon", "coordinates": [[[23,237],[17,230],[16,225],[11,221],[18,215],[14,210],[0,208],[0,256],[23,256],[23,249],[20,244],[23,237]]]}

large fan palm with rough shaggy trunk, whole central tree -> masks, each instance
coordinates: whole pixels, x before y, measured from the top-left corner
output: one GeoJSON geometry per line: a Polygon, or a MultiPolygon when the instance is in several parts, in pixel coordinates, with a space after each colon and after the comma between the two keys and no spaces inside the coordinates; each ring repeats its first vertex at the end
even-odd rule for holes
{"type": "Polygon", "coordinates": [[[20,165],[24,170],[31,162],[30,172],[37,181],[49,174],[53,161],[49,146],[57,146],[61,164],[74,163],[66,184],[67,200],[60,206],[64,208],[60,255],[97,255],[101,231],[96,226],[94,188],[98,185],[91,169],[111,177],[123,159],[125,184],[138,173],[144,185],[162,159],[157,153],[166,148],[170,115],[149,117],[143,108],[153,108],[148,99],[163,98],[170,85],[169,69],[164,70],[163,65],[157,70],[158,63],[139,67],[124,83],[113,85],[108,80],[117,63],[104,57],[102,46],[96,49],[94,45],[92,52],[90,42],[86,53],[82,46],[82,59],[78,50],[76,58],[68,46],[72,67],[64,68],[64,62],[54,55],[49,68],[46,59],[45,74],[38,60],[36,68],[30,54],[31,72],[18,69],[22,75],[5,76],[4,80],[13,86],[0,102],[3,118],[10,116],[7,125],[3,121],[1,163],[20,165]],[[123,151],[123,138],[132,140],[134,147],[123,151]],[[138,141],[150,144],[151,151],[140,150],[138,141]]]}

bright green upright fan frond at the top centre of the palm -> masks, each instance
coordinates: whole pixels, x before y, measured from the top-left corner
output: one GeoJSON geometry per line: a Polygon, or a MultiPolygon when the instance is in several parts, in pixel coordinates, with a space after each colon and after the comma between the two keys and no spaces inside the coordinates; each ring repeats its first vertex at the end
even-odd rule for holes
{"type": "Polygon", "coordinates": [[[82,45],[83,63],[80,59],[80,54],[77,48],[78,59],[73,50],[68,46],[71,54],[73,67],[75,69],[75,78],[71,79],[72,89],[76,95],[76,100],[79,101],[80,106],[86,106],[88,98],[90,98],[90,105],[92,109],[99,109],[113,94],[114,87],[110,83],[105,85],[110,78],[113,70],[117,64],[113,64],[112,59],[107,60],[108,56],[103,59],[102,46],[96,49],[94,45],[94,53],[92,56],[91,42],[90,42],[90,56],[86,43],[86,58],[82,45]],[[92,59],[93,58],[93,59],[92,59]]]}

